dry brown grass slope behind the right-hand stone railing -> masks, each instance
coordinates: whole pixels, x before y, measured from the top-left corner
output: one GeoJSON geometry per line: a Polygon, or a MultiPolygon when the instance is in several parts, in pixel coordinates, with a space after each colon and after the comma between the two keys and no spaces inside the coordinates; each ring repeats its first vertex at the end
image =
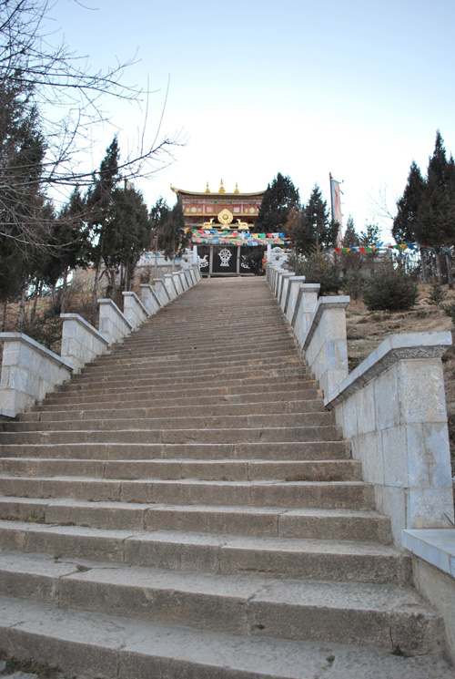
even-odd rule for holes
{"type": "MultiPolygon", "coordinates": [[[[408,312],[369,312],[362,302],[351,302],[347,309],[349,372],[375,349],[388,334],[423,333],[454,328],[444,312],[429,303],[430,285],[420,285],[419,303],[408,312]]],[[[449,293],[446,302],[455,300],[449,293]]],[[[455,347],[442,357],[447,414],[449,418],[450,453],[455,476],[455,347]]]]}

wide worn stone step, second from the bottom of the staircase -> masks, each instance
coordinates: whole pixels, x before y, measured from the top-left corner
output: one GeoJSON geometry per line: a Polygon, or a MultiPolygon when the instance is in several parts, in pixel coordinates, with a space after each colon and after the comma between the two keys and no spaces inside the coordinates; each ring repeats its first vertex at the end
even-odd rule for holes
{"type": "Polygon", "coordinates": [[[112,568],[0,555],[0,595],[241,636],[438,652],[440,616],[410,587],[112,568]],[[77,568],[79,566],[79,568],[77,568]],[[82,566],[82,568],[81,568],[82,566]]]}

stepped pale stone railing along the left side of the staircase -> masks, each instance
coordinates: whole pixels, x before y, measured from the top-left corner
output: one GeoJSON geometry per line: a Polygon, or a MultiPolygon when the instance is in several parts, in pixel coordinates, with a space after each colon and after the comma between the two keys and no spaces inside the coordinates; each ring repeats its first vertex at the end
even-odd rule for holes
{"type": "Polygon", "coordinates": [[[97,330],[78,314],[61,314],[60,356],[25,334],[0,333],[0,340],[4,343],[0,418],[15,417],[36,401],[41,401],[97,355],[104,354],[109,345],[120,342],[149,316],[157,314],[163,306],[201,279],[197,265],[169,275],[174,291],[172,297],[167,293],[164,281],[158,279],[155,287],[141,285],[142,300],[135,293],[123,293],[123,313],[112,300],[98,300],[97,330]]]}

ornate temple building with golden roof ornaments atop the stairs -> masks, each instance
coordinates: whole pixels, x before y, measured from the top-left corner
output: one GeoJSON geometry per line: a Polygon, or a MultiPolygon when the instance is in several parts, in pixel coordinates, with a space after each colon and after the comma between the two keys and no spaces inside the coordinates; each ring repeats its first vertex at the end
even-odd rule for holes
{"type": "Polygon", "coordinates": [[[240,193],[238,185],[227,192],[223,180],[217,192],[171,189],[185,216],[185,228],[197,250],[203,275],[251,275],[248,252],[252,247],[285,243],[283,233],[258,233],[255,222],[265,190],[240,193]]]}

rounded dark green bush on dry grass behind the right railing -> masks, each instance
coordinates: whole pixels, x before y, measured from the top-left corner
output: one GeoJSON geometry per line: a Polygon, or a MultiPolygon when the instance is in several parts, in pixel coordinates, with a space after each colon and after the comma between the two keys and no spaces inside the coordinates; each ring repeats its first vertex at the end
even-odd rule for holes
{"type": "Polygon", "coordinates": [[[362,299],[369,311],[408,311],[418,295],[417,282],[408,273],[386,269],[365,281],[362,299]]]}

